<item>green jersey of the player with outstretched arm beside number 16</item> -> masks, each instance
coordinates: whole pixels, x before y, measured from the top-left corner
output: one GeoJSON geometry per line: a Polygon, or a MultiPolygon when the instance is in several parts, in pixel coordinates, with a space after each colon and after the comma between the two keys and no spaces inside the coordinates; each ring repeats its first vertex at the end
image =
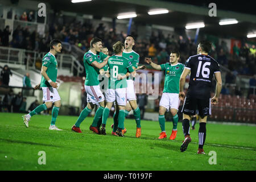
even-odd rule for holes
{"type": "Polygon", "coordinates": [[[171,65],[171,63],[161,64],[161,69],[165,71],[166,77],[164,78],[164,92],[167,93],[179,93],[180,76],[185,67],[184,64],[177,63],[171,65]]]}

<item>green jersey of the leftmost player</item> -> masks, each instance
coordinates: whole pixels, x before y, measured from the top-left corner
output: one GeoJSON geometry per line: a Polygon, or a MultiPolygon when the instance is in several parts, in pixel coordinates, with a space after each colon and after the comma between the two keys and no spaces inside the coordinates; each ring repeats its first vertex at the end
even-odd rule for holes
{"type": "MultiPolygon", "coordinates": [[[[42,66],[47,67],[46,74],[53,81],[56,82],[57,79],[57,67],[58,63],[54,55],[51,52],[48,52],[42,61],[42,66]]],[[[41,78],[41,87],[51,87],[49,82],[42,76],[41,78]]]]}

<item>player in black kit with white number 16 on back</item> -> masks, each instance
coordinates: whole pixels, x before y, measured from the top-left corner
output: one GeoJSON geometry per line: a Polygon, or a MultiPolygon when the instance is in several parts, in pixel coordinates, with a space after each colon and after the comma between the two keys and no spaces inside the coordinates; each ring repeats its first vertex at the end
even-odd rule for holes
{"type": "Polygon", "coordinates": [[[185,139],[180,147],[180,151],[187,150],[191,138],[189,136],[189,121],[191,117],[196,114],[196,109],[199,111],[199,149],[197,154],[205,154],[203,150],[205,138],[206,138],[206,122],[207,115],[211,114],[211,104],[218,103],[218,97],[220,96],[222,80],[220,73],[220,65],[212,57],[208,55],[211,49],[211,44],[207,41],[200,42],[197,47],[198,55],[191,56],[187,60],[184,71],[180,77],[180,93],[179,97],[184,100],[184,105],[181,110],[183,113],[183,133],[185,139]],[[187,96],[183,92],[185,78],[191,73],[187,96]],[[210,98],[210,86],[212,85],[213,75],[216,78],[216,92],[215,96],[210,98]]]}

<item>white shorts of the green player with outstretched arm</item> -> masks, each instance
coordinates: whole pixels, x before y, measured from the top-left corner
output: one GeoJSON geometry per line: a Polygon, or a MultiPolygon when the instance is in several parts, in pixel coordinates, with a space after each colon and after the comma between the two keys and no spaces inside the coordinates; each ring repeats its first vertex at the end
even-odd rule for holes
{"type": "Polygon", "coordinates": [[[180,99],[179,99],[178,93],[164,92],[159,103],[159,106],[166,107],[167,112],[169,111],[169,109],[179,110],[179,105],[180,105],[180,99]]]}

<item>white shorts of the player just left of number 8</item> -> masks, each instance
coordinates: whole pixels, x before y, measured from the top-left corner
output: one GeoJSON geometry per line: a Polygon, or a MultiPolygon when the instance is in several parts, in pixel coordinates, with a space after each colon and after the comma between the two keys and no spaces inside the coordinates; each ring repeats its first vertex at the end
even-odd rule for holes
{"type": "Polygon", "coordinates": [[[101,92],[100,85],[84,85],[84,88],[87,93],[87,102],[99,105],[98,103],[105,100],[104,94],[101,92]]]}

